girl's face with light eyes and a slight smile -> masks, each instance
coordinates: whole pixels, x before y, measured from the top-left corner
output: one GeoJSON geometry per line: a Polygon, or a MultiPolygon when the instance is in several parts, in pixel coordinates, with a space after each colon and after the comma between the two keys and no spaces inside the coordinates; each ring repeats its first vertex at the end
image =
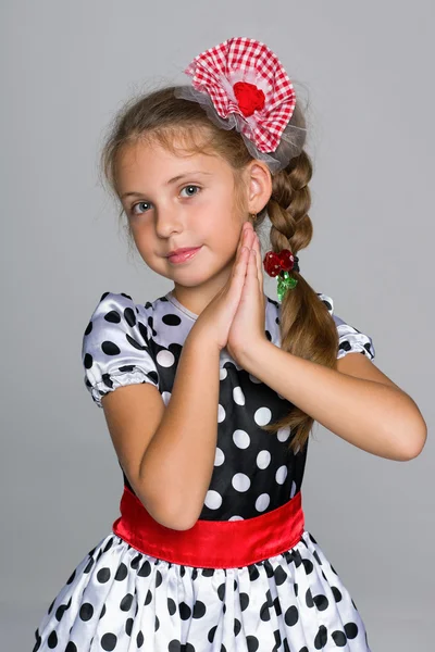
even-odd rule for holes
{"type": "Polygon", "coordinates": [[[225,161],[182,151],[175,155],[157,143],[132,145],[120,155],[117,190],[151,269],[175,287],[206,285],[211,294],[226,283],[248,213],[236,209],[233,172],[225,161]],[[184,176],[169,184],[178,175],[184,176]],[[201,249],[181,264],[166,258],[184,247],[201,249]]]}

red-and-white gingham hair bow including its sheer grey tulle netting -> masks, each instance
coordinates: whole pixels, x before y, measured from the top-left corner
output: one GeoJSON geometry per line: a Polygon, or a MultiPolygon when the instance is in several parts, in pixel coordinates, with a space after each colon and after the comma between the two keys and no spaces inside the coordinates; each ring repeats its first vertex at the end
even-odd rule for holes
{"type": "Polygon", "coordinates": [[[296,93],[268,46],[234,37],[198,54],[184,72],[192,77],[191,88],[177,88],[176,97],[203,104],[222,128],[235,127],[251,154],[270,163],[271,171],[281,170],[300,152],[306,129],[289,125],[296,93]]]}

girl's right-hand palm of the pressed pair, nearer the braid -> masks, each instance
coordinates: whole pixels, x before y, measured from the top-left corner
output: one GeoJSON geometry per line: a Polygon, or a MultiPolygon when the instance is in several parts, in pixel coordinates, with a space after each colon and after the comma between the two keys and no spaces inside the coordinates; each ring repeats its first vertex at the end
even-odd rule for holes
{"type": "Polygon", "coordinates": [[[248,351],[253,352],[265,337],[265,296],[263,292],[263,271],[259,238],[250,223],[246,228],[249,261],[243,292],[234,315],[226,349],[240,365],[248,351]],[[249,233],[250,231],[250,233],[249,233]]]}

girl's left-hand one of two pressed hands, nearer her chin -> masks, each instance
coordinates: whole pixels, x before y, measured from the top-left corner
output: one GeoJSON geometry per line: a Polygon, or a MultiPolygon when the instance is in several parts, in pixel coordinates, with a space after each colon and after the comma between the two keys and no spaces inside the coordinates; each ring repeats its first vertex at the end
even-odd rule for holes
{"type": "Polygon", "coordinates": [[[189,334],[191,338],[204,337],[211,344],[215,343],[220,350],[226,347],[228,341],[229,328],[245,285],[249,248],[244,248],[244,244],[246,246],[251,238],[249,230],[252,231],[252,226],[245,222],[229,278],[201,312],[189,334]]]}

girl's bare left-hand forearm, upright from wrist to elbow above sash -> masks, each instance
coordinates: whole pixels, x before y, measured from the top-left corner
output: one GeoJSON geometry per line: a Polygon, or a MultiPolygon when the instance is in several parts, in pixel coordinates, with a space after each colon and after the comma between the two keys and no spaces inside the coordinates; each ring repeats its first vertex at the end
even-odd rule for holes
{"type": "MultiPolygon", "coordinates": [[[[184,343],[171,400],[139,466],[150,514],[166,527],[198,519],[213,472],[217,437],[217,347],[190,334],[184,343]]],[[[140,498],[139,496],[139,498],[140,498]]]]}

